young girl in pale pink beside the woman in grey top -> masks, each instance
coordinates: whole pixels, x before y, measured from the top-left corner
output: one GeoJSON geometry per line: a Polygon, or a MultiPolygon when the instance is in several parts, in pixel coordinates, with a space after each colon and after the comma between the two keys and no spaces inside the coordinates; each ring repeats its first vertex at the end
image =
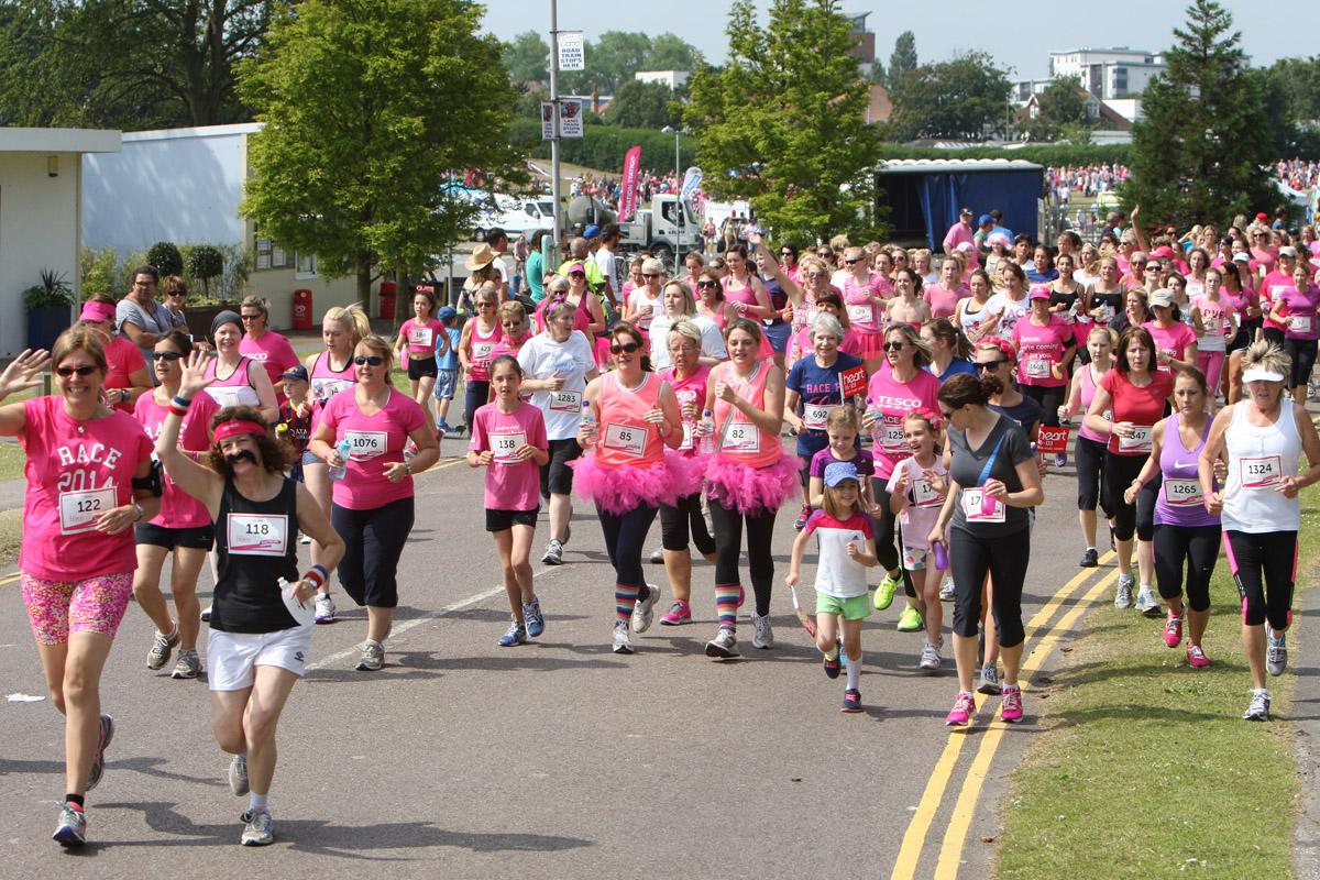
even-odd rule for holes
{"type": "Polygon", "coordinates": [[[912,456],[899,462],[888,483],[890,511],[899,517],[903,536],[903,577],[916,591],[925,624],[920,665],[929,670],[940,668],[940,649],[944,646],[944,636],[940,635],[944,624],[944,607],[940,604],[942,573],[935,565],[929,534],[949,489],[948,471],[935,454],[940,439],[937,422],[935,413],[925,410],[903,420],[903,434],[912,456]]]}

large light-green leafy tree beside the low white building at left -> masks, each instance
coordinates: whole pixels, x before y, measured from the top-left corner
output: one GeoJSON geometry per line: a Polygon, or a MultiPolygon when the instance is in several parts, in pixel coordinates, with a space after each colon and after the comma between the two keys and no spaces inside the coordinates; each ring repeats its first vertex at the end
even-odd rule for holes
{"type": "Polygon", "coordinates": [[[470,230],[450,170],[525,181],[506,137],[513,91],[471,0],[301,0],[239,91],[265,127],[240,206],[330,276],[420,274],[470,230]],[[440,50],[442,47],[442,50],[440,50]]]}

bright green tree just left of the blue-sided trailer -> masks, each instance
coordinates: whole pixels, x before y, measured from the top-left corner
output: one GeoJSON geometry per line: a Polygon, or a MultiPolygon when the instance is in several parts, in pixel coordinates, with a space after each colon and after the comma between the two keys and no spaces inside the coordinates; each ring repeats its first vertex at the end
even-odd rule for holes
{"type": "Polygon", "coordinates": [[[702,187],[751,199],[783,237],[870,234],[880,140],[862,123],[869,87],[838,3],[774,0],[763,28],[754,0],[735,0],[726,32],[729,62],[697,67],[684,108],[702,187]]]}

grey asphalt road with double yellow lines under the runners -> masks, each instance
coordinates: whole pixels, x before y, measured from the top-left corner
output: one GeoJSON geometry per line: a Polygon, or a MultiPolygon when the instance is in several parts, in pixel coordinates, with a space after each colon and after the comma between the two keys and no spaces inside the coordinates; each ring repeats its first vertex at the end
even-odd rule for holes
{"type": "MultiPolygon", "coordinates": [[[[445,454],[461,443],[446,441],[445,454]]],[[[1024,612],[1038,624],[1028,629],[1036,666],[1088,595],[1107,599],[1113,571],[1074,577],[1071,468],[1051,475],[1045,493],[1024,612]]],[[[314,672],[279,732],[275,846],[238,846],[246,800],[223,781],[206,686],[145,669],[152,628],[131,606],[103,679],[116,736],[88,798],[83,851],[50,840],[62,719],[49,699],[0,705],[0,877],[53,876],[78,860],[90,864],[75,869],[107,880],[255,869],[317,880],[985,875],[993,846],[981,838],[998,833],[1006,776],[1048,703],[1028,687],[1026,723],[1006,728],[991,723],[990,698],[974,727],[950,734],[952,658],[935,676],[917,669],[920,635],[894,629],[902,599],[866,624],[861,715],[838,711],[843,682],[821,673],[787,588],[775,596],[774,649],[752,649],[748,624],[742,660],[708,660],[705,563],[693,578],[698,621],[657,623],[635,639],[636,654],[615,656],[611,570],[594,512],[579,505],[566,565],[535,566],[545,635],[502,649],[508,611],[482,532],[480,475],[446,462],[418,479],[417,496],[385,669],[352,670],[359,611],[315,631],[314,672]]],[[[777,524],[780,583],[792,519],[785,511],[777,524]]],[[[648,573],[665,584],[661,566],[648,573]]],[[[809,584],[809,566],[804,577],[809,584]]],[[[335,596],[342,608],[338,587],[335,596]]],[[[12,581],[0,586],[0,670],[5,695],[44,695],[12,581]]]]}

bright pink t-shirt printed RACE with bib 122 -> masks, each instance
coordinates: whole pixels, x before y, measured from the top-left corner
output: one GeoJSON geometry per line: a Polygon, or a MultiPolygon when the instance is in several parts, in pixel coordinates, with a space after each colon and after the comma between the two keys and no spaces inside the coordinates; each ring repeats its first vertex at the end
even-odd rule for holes
{"type": "Polygon", "coordinates": [[[133,529],[104,534],[95,525],[106,511],[133,501],[133,475],[152,455],[143,426],[119,410],[77,422],[54,396],[25,400],[22,412],[28,491],[18,569],[45,581],[135,571],[133,529]]]}

